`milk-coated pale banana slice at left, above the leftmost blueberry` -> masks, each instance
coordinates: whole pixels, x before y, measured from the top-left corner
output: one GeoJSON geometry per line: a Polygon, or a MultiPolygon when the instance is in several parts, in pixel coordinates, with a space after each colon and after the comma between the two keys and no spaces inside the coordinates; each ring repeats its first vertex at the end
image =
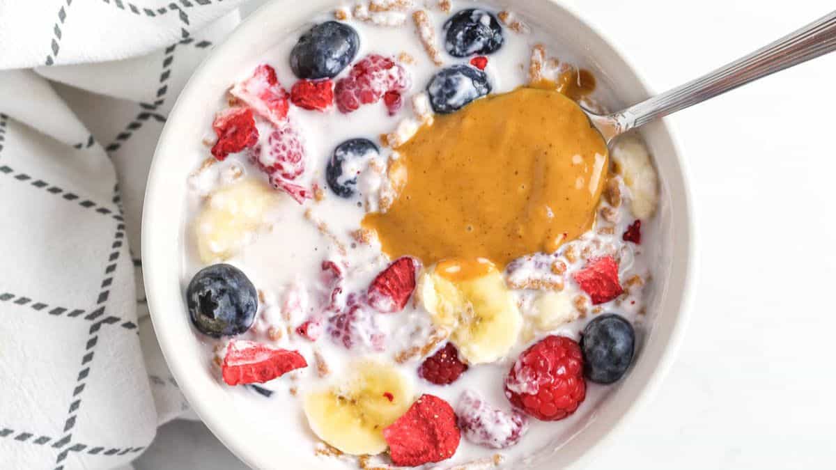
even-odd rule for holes
{"type": "Polygon", "coordinates": [[[270,186],[252,179],[213,192],[195,220],[201,261],[213,263],[232,257],[262,224],[268,207],[277,201],[270,186]]]}

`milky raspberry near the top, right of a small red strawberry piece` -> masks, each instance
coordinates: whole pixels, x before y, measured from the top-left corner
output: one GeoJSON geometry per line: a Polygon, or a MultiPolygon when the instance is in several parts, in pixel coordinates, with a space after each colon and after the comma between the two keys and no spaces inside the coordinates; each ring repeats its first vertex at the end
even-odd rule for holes
{"type": "MultiPolygon", "coordinates": [[[[350,113],[360,105],[378,102],[386,92],[400,93],[409,86],[409,76],[400,64],[382,55],[369,54],[354,64],[348,77],[337,81],[334,87],[337,109],[350,113]]],[[[391,106],[387,107],[391,113],[391,106]]]]}

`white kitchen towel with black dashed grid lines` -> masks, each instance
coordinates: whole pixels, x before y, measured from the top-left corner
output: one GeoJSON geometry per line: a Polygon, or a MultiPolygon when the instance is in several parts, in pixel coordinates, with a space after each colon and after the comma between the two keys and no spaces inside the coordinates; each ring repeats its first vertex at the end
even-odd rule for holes
{"type": "Polygon", "coordinates": [[[0,468],[130,466],[189,412],[147,318],[142,197],[239,3],[0,0],[0,468]]]}

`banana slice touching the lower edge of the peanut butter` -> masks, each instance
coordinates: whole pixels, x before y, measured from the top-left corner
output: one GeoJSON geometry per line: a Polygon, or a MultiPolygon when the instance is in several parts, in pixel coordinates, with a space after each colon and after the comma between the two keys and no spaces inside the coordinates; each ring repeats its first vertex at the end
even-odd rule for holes
{"type": "Polygon", "coordinates": [[[517,342],[523,318],[502,273],[487,260],[438,263],[421,277],[418,292],[468,363],[499,360],[517,342]]]}

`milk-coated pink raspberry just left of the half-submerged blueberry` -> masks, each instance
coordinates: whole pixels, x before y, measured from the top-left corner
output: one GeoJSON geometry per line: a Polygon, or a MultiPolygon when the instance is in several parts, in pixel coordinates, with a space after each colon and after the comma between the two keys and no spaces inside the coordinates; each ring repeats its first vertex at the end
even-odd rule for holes
{"type": "Polygon", "coordinates": [[[267,146],[256,146],[250,158],[270,176],[277,174],[285,180],[293,180],[305,171],[305,149],[302,138],[287,123],[273,129],[268,135],[267,146]]]}

